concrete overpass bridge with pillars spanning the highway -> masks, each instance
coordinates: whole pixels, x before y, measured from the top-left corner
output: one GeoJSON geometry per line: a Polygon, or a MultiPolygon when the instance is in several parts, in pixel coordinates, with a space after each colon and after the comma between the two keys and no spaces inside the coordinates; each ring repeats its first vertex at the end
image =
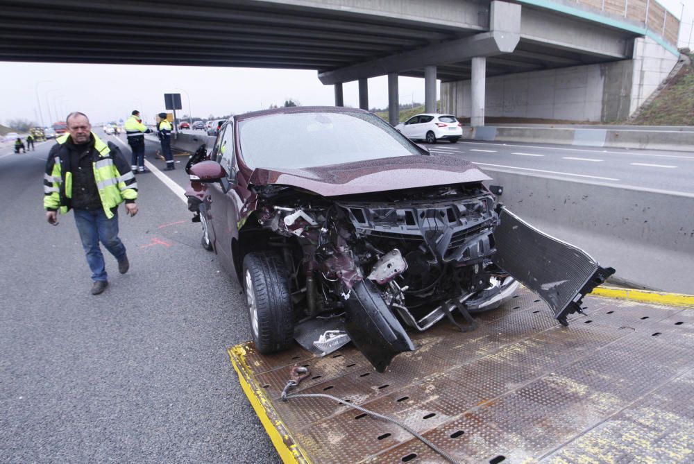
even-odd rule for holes
{"type": "Polygon", "coordinates": [[[679,23],[657,0],[2,0],[0,60],[316,69],[335,86],[425,78],[425,107],[622,119],[675,66],[679,23]],[[587,102],[587,103],[586,103],[587,102]]]}

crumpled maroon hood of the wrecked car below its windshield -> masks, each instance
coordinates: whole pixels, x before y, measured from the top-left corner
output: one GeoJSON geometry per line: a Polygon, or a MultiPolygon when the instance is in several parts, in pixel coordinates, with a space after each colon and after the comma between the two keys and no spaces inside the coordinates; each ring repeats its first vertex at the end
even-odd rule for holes
{"type": "Polygon", "coordinates": [[[251,174],[249,182],[254,185],[291,185],[321,196],[341,196],[483,180],[491,178],[459,157],[422,155],[314,168],[258,168],[251,174]]]}

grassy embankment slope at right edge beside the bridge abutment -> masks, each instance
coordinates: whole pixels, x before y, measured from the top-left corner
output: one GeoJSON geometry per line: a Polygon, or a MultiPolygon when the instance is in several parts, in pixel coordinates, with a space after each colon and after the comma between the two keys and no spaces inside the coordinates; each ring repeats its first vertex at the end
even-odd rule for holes
{"type": "MultiPolygon", "coordinates": [[[[694,58],[694,54],[690,55],[694,58]]],[[[694,126],[694,69],[683,67],[632,121],[641,126],[694,126]]]]}

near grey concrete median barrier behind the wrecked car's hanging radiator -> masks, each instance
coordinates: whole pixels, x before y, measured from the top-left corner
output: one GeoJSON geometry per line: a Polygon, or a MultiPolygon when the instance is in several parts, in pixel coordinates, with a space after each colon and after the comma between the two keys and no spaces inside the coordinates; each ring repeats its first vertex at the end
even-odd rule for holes
{"type": "Polygon", "coordinates": [[[616,268],[615,283],[694,294],[694,195],[484,171],[501,203],[616,268]]]}

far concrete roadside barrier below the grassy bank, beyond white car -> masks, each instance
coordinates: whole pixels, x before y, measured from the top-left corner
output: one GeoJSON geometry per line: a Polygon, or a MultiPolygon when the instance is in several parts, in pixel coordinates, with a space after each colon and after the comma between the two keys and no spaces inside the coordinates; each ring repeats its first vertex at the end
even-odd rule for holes
{"type": "Polygon", "coordinates": [[[694,130],[686,128],[634,128],[627,126],[484,126],[464,128],[463,138],[486,141],[518,141],[531,144],[644,148],[694,151],[694,130]]]}

